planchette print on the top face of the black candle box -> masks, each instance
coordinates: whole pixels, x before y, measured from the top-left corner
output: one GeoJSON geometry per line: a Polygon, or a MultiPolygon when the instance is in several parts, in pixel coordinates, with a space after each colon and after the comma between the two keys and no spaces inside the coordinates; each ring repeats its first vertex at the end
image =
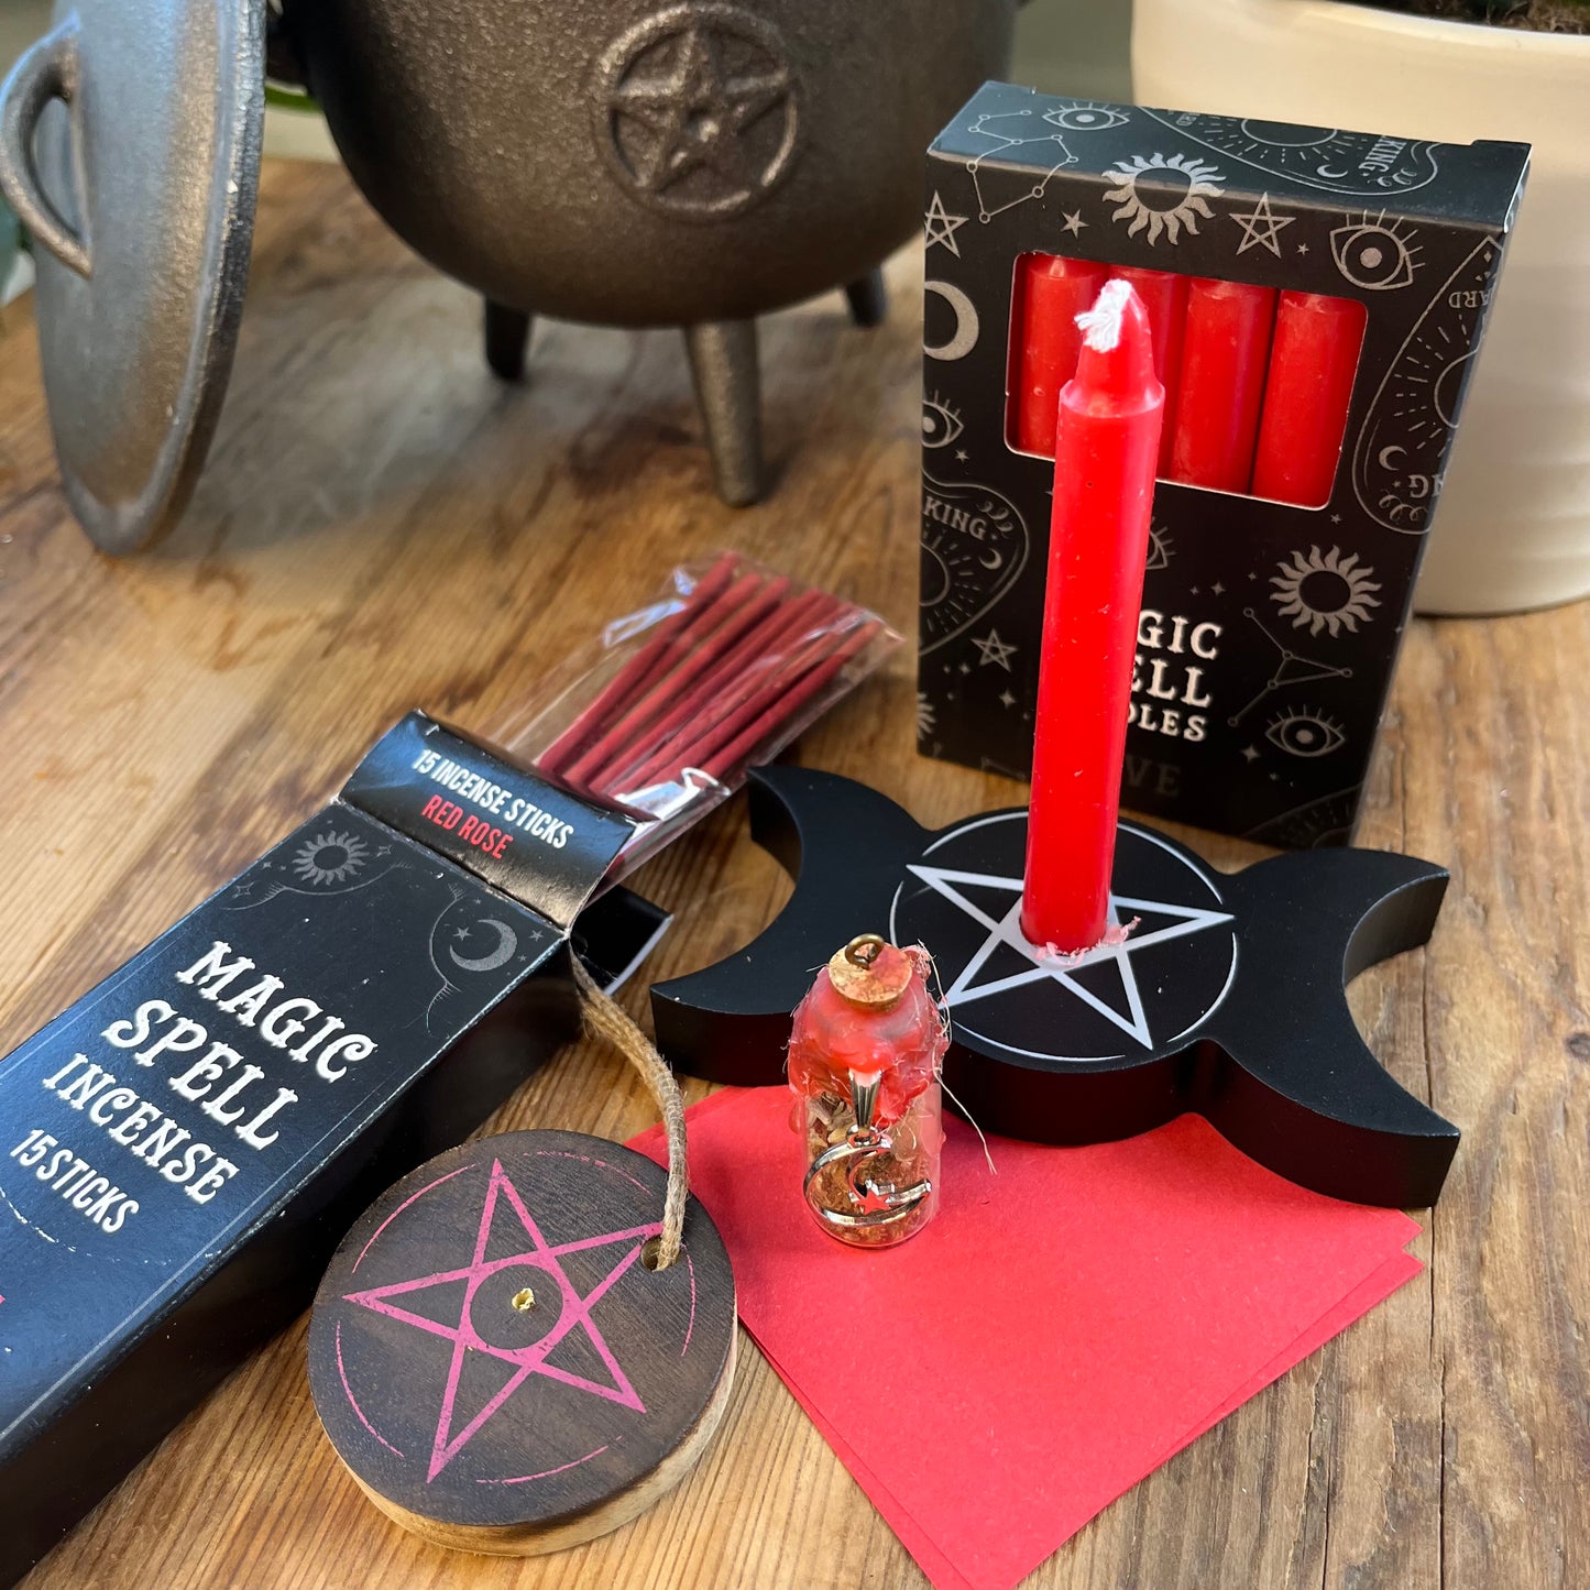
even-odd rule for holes
{"type": "Polygon", "coordinates": [[[1437,145],[1426,142],[1253,118],[1237,121],[1165,110],[1145,110],[1143,114],[1227,161],[1345,197],[1415,192],[1428,188],[1439,170],[1437,145]]]}

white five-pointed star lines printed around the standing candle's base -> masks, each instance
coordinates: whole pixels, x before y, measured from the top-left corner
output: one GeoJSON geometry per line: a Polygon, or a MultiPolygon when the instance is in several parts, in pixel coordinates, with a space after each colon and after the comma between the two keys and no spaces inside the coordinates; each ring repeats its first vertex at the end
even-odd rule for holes
{"type": "Polygon", "coordinates": [[[944,991],[944,1006],[948,1010],[971,1005],[976,1000],[989,999],[989,995],[1002,994],[1005,989],[1022,987],[1027,983],[1041,983],[1049,979],[1059,984],[1067,994],[1080,999],[1089,1010],[1097,1011],[1105,1018],[1105,1021],[1119,1027],[1121,1032],[1140,1043],[1145,1049],[1153,1049],[1154,1035],[1148,1027],[1148,1013],[1143,1010],[1143,995],[1137,987],[1137,973],[1132,967],[1132,957],[1138,951],[1148,949],[1151,944],[1164,944],[1172,938],[1186,938],[1189,933],[1202,933],[1212,927],[1220,927],[1221,924],[1232,921],[1231,913],[1227,911],[1210,911],[1202,906],[1169,905],[1162,900],[1130,900],[1124,895],[1111,894],[1111,929],[1119,929],[1123,913],[1129,921],[1138,911],[1148,911],[1156,917],[1172,917],[1173,921],[1170,925],[1154,929],[1148,933],[1129,933],[1124,937],[1111,933],[1111,938],[1119,937],[1121,941],[1099,944],[1097,949],[1089,949],[1081,956],[1051,956],[1046,951],[1029,944],[1021,930],[1022,879],[999,878],[992,873],[960,873],[941,867],[922,867],[919,863],[908,867],[906,871],[909,871],[914,878],[921,878],[929,889],[943,895],[959,911],[965,913],[975,922],[979,922],[984,929],[987,929],[987,938],[967,962],[960,976],[957,976],[956,981],[944,991]],[[957,884],[968,884],[981,889],[1008,889],[1014,898],[1011,900],[1010,909],[1003,914],[1003,917],[995,919],[983,911],[973,900],[968,900],[967,895],[956,887],[957,884]],[[978,973],[987,964],[994,951],[1002,944],[1024,956],[1032,964],[1032,970],[1016,971],[1010,976],[995,976],[987,983],[978,983],[978,973]],[[1097,994],[1083,987],[1083,984],[1075,978],[1075,973],[1084,970],[1086,967],[1107,965],[1110,962],[1115,964],[1121,978],[1124,1010],[1118,1010],[1108,1002],[1099,999],[1097,994]]]}

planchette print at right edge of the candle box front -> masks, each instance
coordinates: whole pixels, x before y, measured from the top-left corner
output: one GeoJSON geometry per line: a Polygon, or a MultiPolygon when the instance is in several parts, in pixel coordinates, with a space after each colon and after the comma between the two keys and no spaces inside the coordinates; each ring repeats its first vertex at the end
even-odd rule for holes
{"type": "Polygon", "coordinates": [[[1369,404],[1353,450],[1353,493],[1386,529],[1421,536],[1463,405],[1490,299],[1496,238],[1485,237],[1431,296],[1369,404]]]}

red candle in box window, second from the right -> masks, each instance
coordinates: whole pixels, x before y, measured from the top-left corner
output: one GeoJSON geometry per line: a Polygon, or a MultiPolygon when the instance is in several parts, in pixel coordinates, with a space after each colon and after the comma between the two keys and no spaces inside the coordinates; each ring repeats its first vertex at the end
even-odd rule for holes
{"type": "Polygon", "coordinates": [[[1170,479],[1247,491],[1275,320],[1275,288],[1188,283],[1170,479]]]}

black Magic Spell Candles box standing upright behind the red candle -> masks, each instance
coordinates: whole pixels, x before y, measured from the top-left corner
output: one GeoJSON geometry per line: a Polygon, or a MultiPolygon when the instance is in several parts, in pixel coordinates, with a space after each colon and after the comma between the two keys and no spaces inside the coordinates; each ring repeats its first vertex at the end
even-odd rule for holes
{"type": "Polygon", "coordinates": [[[1137,811],[1347,843],[1528,157],[984,84],[929,151],[919,749],[1032,768],[1053,463],[1006,432],[1018,258],[1356,299],[1328,502],[1156,488],[1123,774],[1137,811]]]}

